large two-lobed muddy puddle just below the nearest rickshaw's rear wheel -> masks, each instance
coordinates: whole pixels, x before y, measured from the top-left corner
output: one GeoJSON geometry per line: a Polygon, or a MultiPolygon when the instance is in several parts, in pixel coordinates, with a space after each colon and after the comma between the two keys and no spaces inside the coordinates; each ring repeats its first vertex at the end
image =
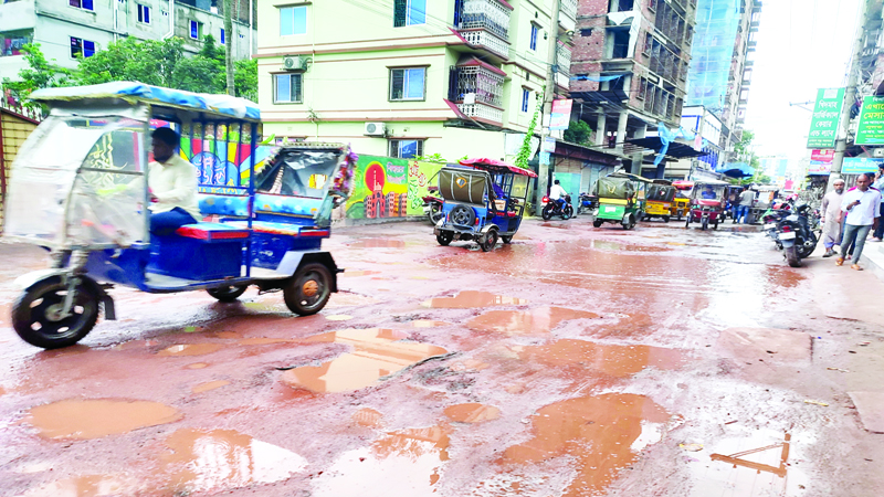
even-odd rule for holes
{"type": "Polygon", "coordinates": [[[284,383],[313,392],[345,392],[373,384],[418,361],[448,353],[442,347],[400,341],[408,335],[391,329],[346,329],[317,335],[307,343],[344,343],[352,351],[322,366],[304,366],[282,374],[284,383]]]}

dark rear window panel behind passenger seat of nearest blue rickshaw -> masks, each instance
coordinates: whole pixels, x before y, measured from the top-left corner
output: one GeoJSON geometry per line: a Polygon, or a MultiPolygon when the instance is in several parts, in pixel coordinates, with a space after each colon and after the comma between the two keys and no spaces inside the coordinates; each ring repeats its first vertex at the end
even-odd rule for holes
{"type": "Polygon", "coordinates": [[[322,199],[343,150],[280,150],[270,168],[255,175],[255,189],[266,193],[322,199]]]}

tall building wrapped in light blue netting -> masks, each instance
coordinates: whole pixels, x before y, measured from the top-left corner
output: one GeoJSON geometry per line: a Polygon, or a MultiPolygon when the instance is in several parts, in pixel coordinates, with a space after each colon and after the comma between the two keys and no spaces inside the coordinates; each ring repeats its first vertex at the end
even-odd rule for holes
{"type": "Polygon", "coordinates": [[[760,0],[697,0],[686,105],[704,106],[720,119],[717,145],[726,154],[719,165],[732,159],[727,152],[746,119],[761,7],[760,0]]]}

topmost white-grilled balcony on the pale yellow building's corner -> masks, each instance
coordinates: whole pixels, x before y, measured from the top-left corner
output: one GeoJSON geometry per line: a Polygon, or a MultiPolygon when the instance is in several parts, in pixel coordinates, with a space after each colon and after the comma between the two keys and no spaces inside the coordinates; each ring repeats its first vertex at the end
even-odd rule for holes
{"type": "Polygon", "coordinates": [[[498,0],[457,0],[454,27],[464,41],[509,59],[509,15],[513,8],[498,0]]]}

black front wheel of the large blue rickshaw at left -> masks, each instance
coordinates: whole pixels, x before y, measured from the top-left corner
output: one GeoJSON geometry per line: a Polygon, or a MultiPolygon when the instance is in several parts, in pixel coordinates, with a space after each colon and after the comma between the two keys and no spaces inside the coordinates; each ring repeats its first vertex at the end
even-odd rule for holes
{"type": "Polygon", "coordinates": [[[98,298],[85,285],[76,288],[71,316],[57,316],[64,306],[67,285],[39,283],[12,305],[12,327],[22,340],[44,349],[70,347],[82,340],[98,321],[98,298]]]}

